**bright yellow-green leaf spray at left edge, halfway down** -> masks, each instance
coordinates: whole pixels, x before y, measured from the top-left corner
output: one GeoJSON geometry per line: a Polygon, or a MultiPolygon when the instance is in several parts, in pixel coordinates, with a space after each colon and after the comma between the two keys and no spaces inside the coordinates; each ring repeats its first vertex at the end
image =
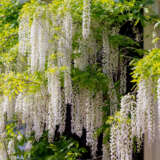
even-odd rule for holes
{"type": "Polygon", "coordinates": [[[1,94],[16,96],[20,92],[34,93],[44,84],[44,78],[40,73],[2,73],[0,75],[1,94]]]}

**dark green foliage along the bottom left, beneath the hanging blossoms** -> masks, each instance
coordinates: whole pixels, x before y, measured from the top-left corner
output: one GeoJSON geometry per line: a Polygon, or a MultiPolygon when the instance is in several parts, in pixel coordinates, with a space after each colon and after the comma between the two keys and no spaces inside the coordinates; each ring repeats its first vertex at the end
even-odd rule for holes
{"type": "Polygon", "coordinates": [[[71,138],[60,137],[53,143],[48,142],[47,132],[43,134],[39,141],[33,137],[24,137],[23,127],[17,128],[14,122],[6,126],[7,141],[14,139],[15,154],[17,160],[76,160],[86,153],[85,148],[81,148],[79,143],[71,138]],[[30,150],[26,149],[27,142],[32,143],[30,150]]]}

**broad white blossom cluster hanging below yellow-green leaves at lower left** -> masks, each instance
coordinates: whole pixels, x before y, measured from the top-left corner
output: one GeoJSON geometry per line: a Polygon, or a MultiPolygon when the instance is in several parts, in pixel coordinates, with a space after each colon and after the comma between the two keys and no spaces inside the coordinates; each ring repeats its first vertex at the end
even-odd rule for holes
{"type": "Polygon", "coordinates": [[[26,125],[26,136],[30,136],[34,131],[36,140],[42,136],[44,126],[48,121],[45,96],[40,92],[34,95],[19,94],[15,102],[15,113],[18,115],[18,119],[26,125]]]}

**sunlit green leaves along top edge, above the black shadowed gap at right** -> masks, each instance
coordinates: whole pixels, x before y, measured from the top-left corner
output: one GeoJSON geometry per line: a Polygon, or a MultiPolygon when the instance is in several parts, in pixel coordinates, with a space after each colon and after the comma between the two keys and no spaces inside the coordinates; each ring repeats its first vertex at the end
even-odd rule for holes
{"type": "Polygon", "coordinates": [[[145,5],[136,0],[115,2],[114,0],[96,0],[92,4],[92,16],[98,21],[104,23],[107,21],[110,25],[121,25],[126,21],[144,21],[141,11],[145,5]]]}

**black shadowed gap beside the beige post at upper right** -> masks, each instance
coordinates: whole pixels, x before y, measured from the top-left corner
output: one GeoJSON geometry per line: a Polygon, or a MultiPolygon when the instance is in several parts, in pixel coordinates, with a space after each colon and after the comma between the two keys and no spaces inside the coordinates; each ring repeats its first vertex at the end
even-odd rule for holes
{"type": "Polygon", "coordinates": [[[140,59],[143,57],[143,54],[141,52],[137,52],[138,49],[143,49],[143,26],[141,23],[138,23],[136,27],[134,27],[133,22],[127,22],[125,23],[121,29],[119,34],[127,36],[134,40],[137,44],[133,46],[127,46],[127,48],[122,48],[120,46],[120,51],[122,52],[122,56],[125,58],[125,63],[127,64],[127,93],[133,91],[133,87],[135,83],[132,81],[131,73],[133,72],[132,66],[130,65],[131,60],[134,58],[140,59]],[[135,49],[132,49],[134,47],[135,49]]]}

